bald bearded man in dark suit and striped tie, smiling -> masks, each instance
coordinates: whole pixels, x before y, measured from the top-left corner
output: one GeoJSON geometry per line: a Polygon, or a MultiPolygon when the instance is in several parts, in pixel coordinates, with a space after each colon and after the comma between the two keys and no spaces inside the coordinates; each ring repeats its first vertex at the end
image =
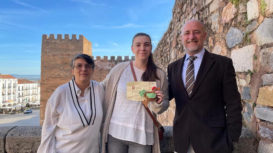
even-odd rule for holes
{"type": "Polygon", "coordinates": [[[230,153],[241,135],[242,104],[232,60],[204,49],[206,36],[203,22],[186,22],[181,31],[186,55],[168,66],[178,153],[230,153]]]}

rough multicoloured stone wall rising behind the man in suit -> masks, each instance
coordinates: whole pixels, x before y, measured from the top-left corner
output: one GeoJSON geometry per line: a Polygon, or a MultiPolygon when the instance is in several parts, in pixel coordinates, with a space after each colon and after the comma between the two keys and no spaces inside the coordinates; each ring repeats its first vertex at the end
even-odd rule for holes
{"type": "MultiPolygon", "coordinates": [[[[190,19],[204,22],[204,48],[230,57],[243,104],[244,126],[263,145],[273,145],[273,0],[176,0],[167,31],[154,50],[154,61],[167,72],[169,63],[183,57],[180,39],[183,24],[190,19]],[[231,2],[233,3],[231,3],[231,2]]],[[[163,125],[172,125],[175,102],[159,115],[163,125]]]]}

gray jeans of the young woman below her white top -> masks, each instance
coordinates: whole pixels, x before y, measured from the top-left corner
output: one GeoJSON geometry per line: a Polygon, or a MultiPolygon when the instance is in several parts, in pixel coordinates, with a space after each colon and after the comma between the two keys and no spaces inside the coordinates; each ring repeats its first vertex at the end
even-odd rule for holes
{"type": "Polygon", "coordinates": [[[136,142],[120,140],[108,134],[107,153],[151,153],[152,145],[142,145],[136,142]]]}

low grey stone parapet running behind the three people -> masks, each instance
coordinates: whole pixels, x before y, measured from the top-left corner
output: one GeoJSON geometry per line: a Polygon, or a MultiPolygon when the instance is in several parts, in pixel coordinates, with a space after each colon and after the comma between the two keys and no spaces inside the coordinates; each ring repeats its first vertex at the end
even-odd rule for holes
{"type": "MultiPolygon", "coordinates": [[[[172,126],[164,126],[164,138],[160,141],[161,153],[172,153],[172,126]]],[[[0,127],[0,153],[36,153],[41,143],[42,127],[8,126],[0,127]]],[[[234,143],[234,153],[252,153],[254,135],[243,127],[239,143],[234,143]]],[[[261,143],[264,145],[264,143],[261,143]]],[[[272,145],[271,145],[272,146],[272,145]]]]}

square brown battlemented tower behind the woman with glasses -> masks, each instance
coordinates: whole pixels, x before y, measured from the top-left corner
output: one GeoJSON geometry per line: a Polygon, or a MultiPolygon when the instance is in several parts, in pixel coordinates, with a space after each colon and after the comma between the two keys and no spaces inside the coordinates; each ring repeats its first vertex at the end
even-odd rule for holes
{"type": "Polygon", "coordinates": [[[54,90],[67,83],[72,74],[69,68],[69,62],[75,54],[85,53],[92,55],[92,43],[88,41],[83,35],[69,35],[58,34],[55,39],[54,34],[43,35],[42,49],[41,49],[41,105],[40,105],[40,124],[43,123],[45,117],[45,107],[48,98],[54,90]]]}

